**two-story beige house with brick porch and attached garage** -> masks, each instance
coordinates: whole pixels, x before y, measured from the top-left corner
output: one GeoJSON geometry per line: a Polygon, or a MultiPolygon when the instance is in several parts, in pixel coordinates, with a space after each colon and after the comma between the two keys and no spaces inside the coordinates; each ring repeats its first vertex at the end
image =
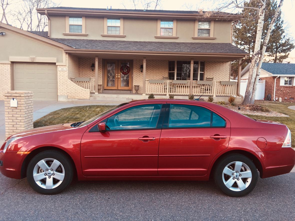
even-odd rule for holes
{"type": "Polygon", "coordinates": [[[0,23],[1,97],[7,90],[64,101],[237,95],[230,61],[248,55],[231,43],[232,22],[240,15],[71,7],[37,12],[47,16],[48,32],[0,23]]]}

